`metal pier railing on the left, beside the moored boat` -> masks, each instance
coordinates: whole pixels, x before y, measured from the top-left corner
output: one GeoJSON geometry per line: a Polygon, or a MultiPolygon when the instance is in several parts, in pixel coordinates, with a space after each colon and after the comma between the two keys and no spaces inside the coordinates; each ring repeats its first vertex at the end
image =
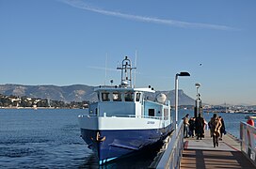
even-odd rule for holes
{"type": "Polygon", "coordinates": [[[158,169],[180,168],[184,150],[184,123],[180,122],[178,129],[173,131],[168,148],[158,162],[158,169]]]}

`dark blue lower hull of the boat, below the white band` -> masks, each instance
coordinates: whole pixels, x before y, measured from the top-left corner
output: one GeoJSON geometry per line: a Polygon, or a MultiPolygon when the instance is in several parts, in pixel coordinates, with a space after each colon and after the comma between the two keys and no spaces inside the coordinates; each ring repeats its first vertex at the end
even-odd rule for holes
{"type": "Polygon", "coordinates": [[[145,146],[162,141],[170,132],[170,125],[158,130],[95,131],[81,129],[82,138],[95,153],[100,163],[119,158],[145,146]],[[97,132],[102,141],[97,141],[97,132]]]}

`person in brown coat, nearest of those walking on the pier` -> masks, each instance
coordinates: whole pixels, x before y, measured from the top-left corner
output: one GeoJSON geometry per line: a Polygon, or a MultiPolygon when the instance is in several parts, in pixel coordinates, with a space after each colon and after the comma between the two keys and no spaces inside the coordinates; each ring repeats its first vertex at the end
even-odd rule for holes
{"type": "Polygon", "coordinates": [[[214,147],[218,146],[218,137],[220,135],[221,121],[214,114],[210,121],[211,137],[213,137],[214,147]]]}

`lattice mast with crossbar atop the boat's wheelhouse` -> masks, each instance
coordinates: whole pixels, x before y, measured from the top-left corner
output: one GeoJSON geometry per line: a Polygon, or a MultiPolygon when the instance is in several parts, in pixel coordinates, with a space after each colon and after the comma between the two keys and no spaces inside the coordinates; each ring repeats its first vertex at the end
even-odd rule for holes
{"type": "Polygon", "coordinates": [[[132,70],[136,69],[132,67],[132,62],[128,59],[128,56],[122,60],[121,67],[118,67],[121,70],[121,80],[120,85],[122,87],[133,86],[132,84],[132,70]]]}

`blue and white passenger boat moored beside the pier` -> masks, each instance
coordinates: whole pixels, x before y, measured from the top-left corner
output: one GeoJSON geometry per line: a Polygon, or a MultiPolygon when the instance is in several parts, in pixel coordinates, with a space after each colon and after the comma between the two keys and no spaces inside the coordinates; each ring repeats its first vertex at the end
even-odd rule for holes
{"type": "Polygon", "coordinates": [[[98,101],[88,106],[88,115],[78,115],[81,137],[92,149],[99,164],[127,157],[141,149],[163,144],[173,130],[170,101],[155,95],[151,86],[136,88],[132,83],[131,60],[125,56],[119,85],[94,88],[98,101]]]}

